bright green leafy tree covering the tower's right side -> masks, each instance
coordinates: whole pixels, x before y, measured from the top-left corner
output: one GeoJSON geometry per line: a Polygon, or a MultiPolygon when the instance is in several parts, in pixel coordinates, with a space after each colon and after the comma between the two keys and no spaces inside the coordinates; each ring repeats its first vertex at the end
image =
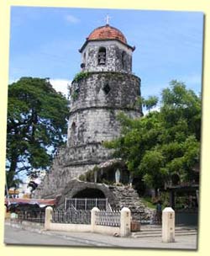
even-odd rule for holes
{"type": "Polygon", "coordinates": [[[175,80],[162,91],[160,109],[151,111],[155,102],[153,97],[142,100],[144,106],[149,103],[150,112],[139,119],[118,115],[121,136],[104,145],[123,158],[134,176],[157,190],[173,174],[182,181],[193,179],[200,157],[202,100],[175,80]]]}

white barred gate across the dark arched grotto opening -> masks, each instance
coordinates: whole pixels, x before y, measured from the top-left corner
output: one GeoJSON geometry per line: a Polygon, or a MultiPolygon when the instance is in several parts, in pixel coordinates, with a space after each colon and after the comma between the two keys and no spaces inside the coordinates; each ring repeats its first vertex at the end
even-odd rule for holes
{"type": "Polygon", "coordinates": [[[108,210],[107,198],[66,198],[66,210],[73,206],[76,210],[92,210],[97,207],[99,210],[108,210]]]}

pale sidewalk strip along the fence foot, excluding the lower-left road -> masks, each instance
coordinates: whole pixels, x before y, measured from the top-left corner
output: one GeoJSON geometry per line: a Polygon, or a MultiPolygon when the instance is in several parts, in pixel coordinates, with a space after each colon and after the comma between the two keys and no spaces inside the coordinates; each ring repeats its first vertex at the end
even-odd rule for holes
{"type": "MultiPolygon", "coordinates": [[[[28,230],[30,232],[39,232],[48,236],[59,237],[66,240],[79,241],[84,247],[102,247],[102,248],[171,248],[171,249],[197,249],[197,234],[179,235],[175,237],[175,243],[162,243],[161,236],[155,237],[114,237],[92,232],[55,232],[45,231],[44,227],[34,225],[34,223],[11,223],[5,225],[28,230]]],[[[151,227],[144,227],[150,229],[151,227]]]]}

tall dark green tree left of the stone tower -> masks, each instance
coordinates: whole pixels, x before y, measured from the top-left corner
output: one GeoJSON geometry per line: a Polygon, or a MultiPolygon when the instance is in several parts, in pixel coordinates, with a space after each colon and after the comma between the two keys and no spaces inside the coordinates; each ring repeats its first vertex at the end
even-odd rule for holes
{"type": "Polygon", "coordinates": [[[68,102],[48,78],[22,77],[8,86],[8,187],[18,173],[49,168],[64,143],[67,116],[68,102]]]}

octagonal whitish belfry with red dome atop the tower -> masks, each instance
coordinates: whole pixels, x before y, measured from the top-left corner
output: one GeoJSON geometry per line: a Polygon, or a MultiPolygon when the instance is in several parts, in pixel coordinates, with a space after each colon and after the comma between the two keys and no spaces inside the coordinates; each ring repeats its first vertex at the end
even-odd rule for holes
{"type": "Polygon", "coordinates": [[[87,72],[132,72],[134,47],[123,33],[109,24],[94,29],[81,52],[81,68],[87,72]]]}

